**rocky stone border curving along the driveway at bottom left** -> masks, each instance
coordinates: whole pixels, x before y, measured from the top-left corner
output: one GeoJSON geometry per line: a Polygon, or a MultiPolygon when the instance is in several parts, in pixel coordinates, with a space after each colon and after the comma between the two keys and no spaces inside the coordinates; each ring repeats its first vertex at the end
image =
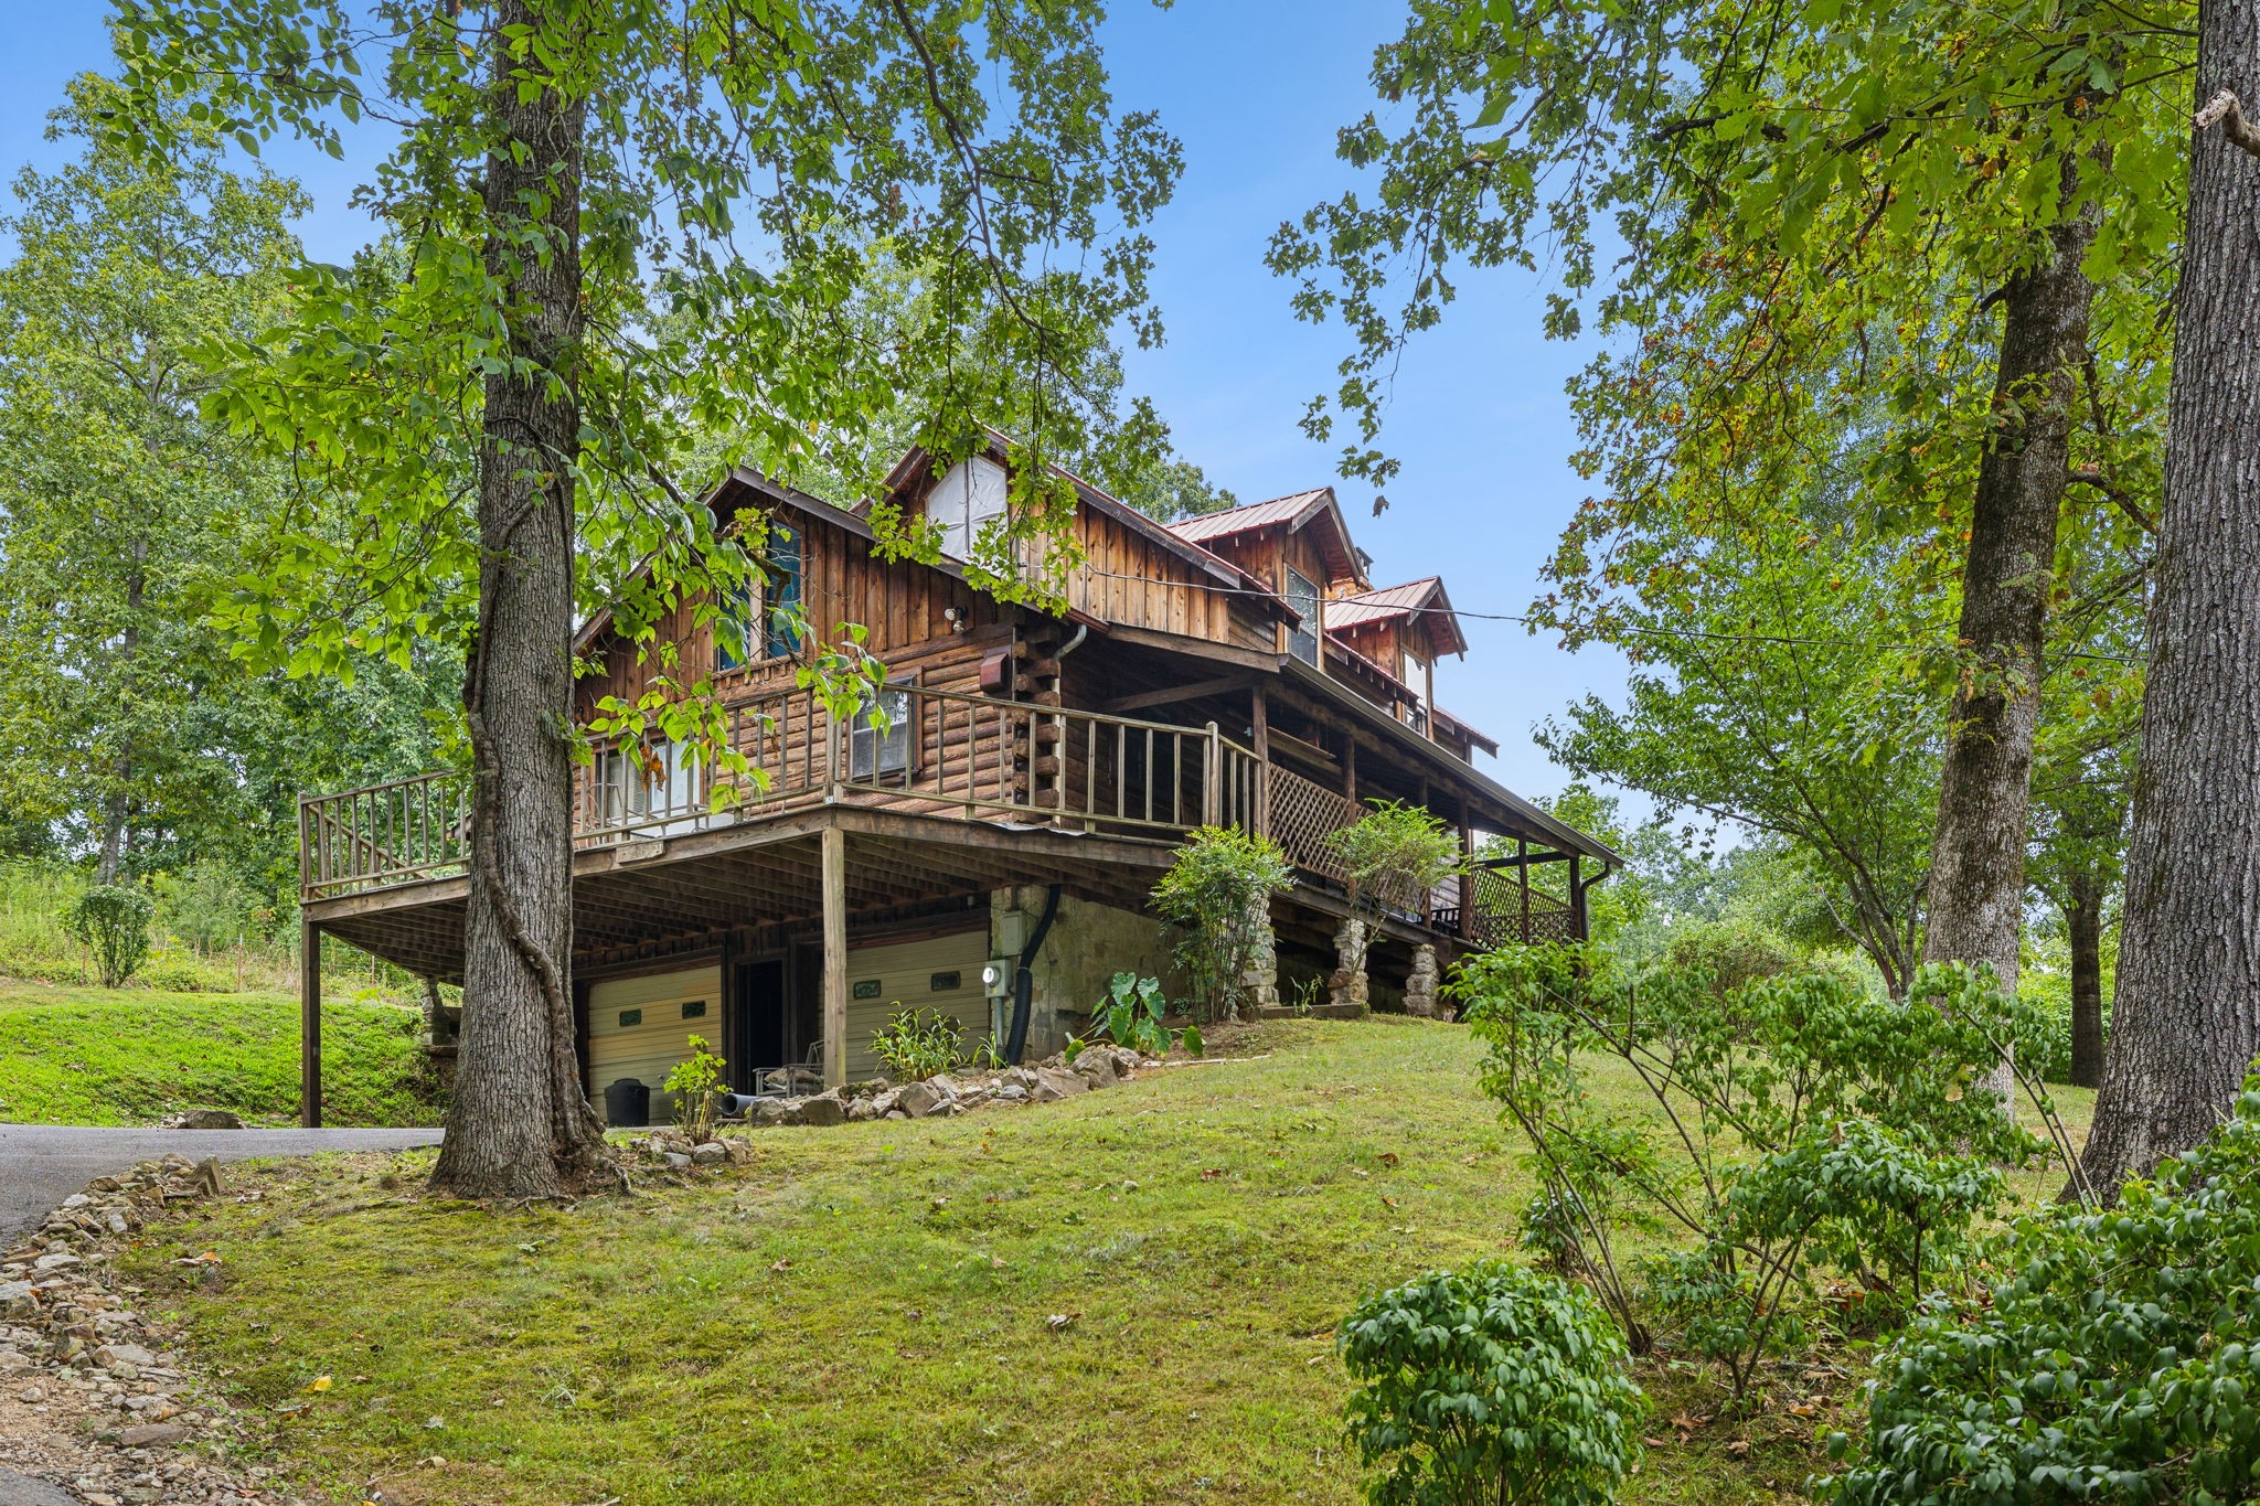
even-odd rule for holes
{"type": "Polygon", "coordinates": [[[90,1506],[253,1495],[174,1447],[219,1441],[235,1420],[183,1373],[111,1267],[142,1224],[217,1194],[219,1181],[217,1161],[145,1161],[63,1199],[0,1255],[0,1402],[16,1413],[0,1425],[0,1463],[38,1468],[90,1506]]]}

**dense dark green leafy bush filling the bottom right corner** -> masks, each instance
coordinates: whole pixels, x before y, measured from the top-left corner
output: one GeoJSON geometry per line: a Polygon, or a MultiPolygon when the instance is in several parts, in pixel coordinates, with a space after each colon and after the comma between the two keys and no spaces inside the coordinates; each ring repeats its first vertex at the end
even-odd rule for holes
{"type": "Polygon", "coordinates": [[[1991,1260],[1987,1303],[1923,1314],[1885,1357],[1835,1499],[2253,1499],[2260,1077],[2118,1208],[2027,1217],[1991,1260]]]}

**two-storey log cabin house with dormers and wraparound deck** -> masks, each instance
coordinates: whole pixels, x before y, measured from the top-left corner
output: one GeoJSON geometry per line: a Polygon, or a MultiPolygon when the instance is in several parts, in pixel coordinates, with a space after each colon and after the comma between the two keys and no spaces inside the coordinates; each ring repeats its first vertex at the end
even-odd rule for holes
{"type": "MultiPolygon", "coordinates": [[[[1003,440],[942,476],[922,452],[897,465],[890,501],[940,531],[938,562],[886,560],[868,508],[746,470],[710,494],[723,522],[766,515],[766,601],[737,607],[744,655],[689,607],[660,632],[678,673],[714,668],[766,788],[719,793],[669,745],[579,768],[572,978],[594,1102],[619,1079],[658,1088],[692,1034],[739,1091],[784,1063],[866,1077],[872,1032],[920,1005],[967,1045],[1049,1054],[1114,971],[1171,975],[1146,899],[1200,824],[1266,833],[1297,869],[1261,1009],[1367,1005],[1327,991],[1349,905],[1324,838],[1370,799],[1426,806],[1480,858],[1379,926],[1372,1002],[1422,1007],[1442,966],[1507,937],[1584,937],[1616,853],[1474,768],[1496,745],[1435,700],[1435,662],[1467,653],[1444,583],[1376,587],[1331,488],[1162,524],[1069,479],[1083,560],[1046,612],[963,567],[1010,465],[1003,440]],[[798,689],[802,646],[768,616],[793,601],[811,632],[866,628],[881,716],[834,718],[798,689]]],[[[579,648],[583,720],[646,686],[606,619],[579,648]]],[[[427,774],[301,802],[307,1122],[323,935],[461,980],[463,799],[427,774]]]]}

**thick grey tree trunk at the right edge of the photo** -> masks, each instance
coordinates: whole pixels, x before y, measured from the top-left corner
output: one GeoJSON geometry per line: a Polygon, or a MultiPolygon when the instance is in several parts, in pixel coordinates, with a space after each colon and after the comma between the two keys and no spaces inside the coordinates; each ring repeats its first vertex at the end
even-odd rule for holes
{"type": "MultiPolygon", "coordinates": [[[[2260,0],[2204,0],[2197,97],[2260,99],[2260,0]]],[[[2190,158],[2127,917],[2086,1170],[2201,1140],[2260,1050],[2260,160],[2190,158]]]]}

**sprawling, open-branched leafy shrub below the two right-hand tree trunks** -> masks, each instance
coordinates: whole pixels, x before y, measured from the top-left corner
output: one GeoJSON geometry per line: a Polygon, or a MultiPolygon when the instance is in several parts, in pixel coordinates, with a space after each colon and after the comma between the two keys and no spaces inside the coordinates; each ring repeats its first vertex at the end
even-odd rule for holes
{"type": "Polygon", "coordinates": [[[1706,971],[1623,982],[1582,948],[1530,946],[1467,962],[1455,991],[1489,1045],[1485,1091],[1535,1147],[1535,1246],[1593,1282],[1634,1348],[1650,1321],[1670,1325],[1729,1368],[1736,1398],[1803,1339],[1817,1269],[1855,1278],[1878,1312],[1912,1310],[2002,1197],[1989,1163],[2041,1149],[1977,1091],[2018,1016],[1991,975],[1923,969],[1903,1002],[1788,973],[1722,1007],[1706,971]],[[1589,1093],[1591,1052],[1659,1113],[1589,1093]],[[1693,1249],[1650,1260],[1634,1292],[1616,1258],[1627,1226],[1693,1249]]]}

